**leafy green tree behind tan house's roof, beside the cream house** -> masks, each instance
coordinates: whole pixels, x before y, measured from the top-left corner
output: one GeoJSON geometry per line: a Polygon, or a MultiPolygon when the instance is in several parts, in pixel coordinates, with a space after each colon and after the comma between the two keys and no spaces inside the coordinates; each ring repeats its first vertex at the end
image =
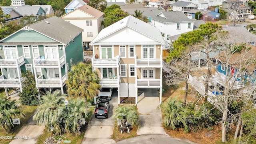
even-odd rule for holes
{"type": "Polygon", "coordinates": [[[103,24],[105,27],[110,26],[111,24],[122,20],[126,16],[129,16],[127,12],[121,10],[120,6],[113,4],[112,6],[106,8],[106,10],[104,11],[103,24]]]}

